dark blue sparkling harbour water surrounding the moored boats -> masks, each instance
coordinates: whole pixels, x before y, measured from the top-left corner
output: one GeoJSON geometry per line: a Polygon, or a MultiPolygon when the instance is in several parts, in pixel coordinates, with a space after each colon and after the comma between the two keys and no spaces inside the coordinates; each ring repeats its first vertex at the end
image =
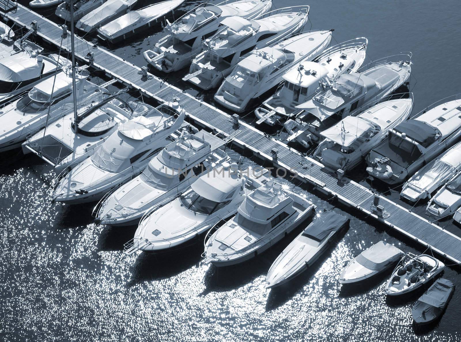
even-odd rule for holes
{"type": "MultiPolygon", "coordinates": [[[[140,1],[138,6],[147,4],[140,1]]],[[[182,9],[195,4],[186,2],[182,9]]],[[[274,2],[277,7],[297,4],[274,2]]],[[[416,111],[459,92],[459,1],[318,1],[310,5],[312,29],[334,28],[338,42],[365,36],[373,59],[413,51],[410,88],[416,111]]],[[[53,19],[53,11],[44,13],[53,19]]],[[[113,50],[145,65],[141,53],[155,39],[140,37],[113,50]]],[[[181,73],[168,78],[177,82],[181,73]]],[[[227,151],[235,160],[242,155],[227,151]]],[[[243,155],[244,167],[260,163],[243,155]]],[[[297,184],[291,183],[293,190],[307,194],[319,211],[333,209],[350,217],[351,228],[311,269],[270,291],[262,283],[266,272],[299,229],[259,257],[231,268],[201,265],[200,241],[175,253],[126,257],[123,244],[136,227],[97,225],[90,216],[92,205],[51,203],[47,190],[55,174],[48,165],[20,151],[2,157],[3,340],[461,339],[460,289],[455,290],[442,319],[420,329],[412,324],[411,307],[421,291],[389,300],[384,295],[387,276],[350,287],[338,284],[344,263],[381,239],[403,251],[424,250],[297,184]]],[[[443,277],[461,286],[459,268],[445,268],[443,277]]]]}

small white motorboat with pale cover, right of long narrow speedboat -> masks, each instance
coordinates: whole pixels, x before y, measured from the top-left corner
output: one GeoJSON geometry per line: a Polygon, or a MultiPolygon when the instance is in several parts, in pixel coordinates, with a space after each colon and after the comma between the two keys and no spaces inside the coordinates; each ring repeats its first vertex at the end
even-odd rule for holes
{"type": "Polygon", "coordinates": [[[369,279],[389,269],[402,256],[403,252],[394,245],[379,241],[362,251],[343,268],[339,282],[351,284],[369,279]]]}

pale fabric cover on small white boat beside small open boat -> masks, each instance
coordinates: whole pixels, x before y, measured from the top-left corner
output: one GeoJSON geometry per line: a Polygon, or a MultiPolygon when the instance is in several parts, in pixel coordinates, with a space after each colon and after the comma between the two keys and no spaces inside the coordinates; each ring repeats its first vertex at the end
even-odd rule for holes
{"type": "Polygon", "coordinates": [[[377,244],[361,252],[355,260],[363,267],[377,271],[386,266],[389,260],[394,259],[399,254],[402,254],[402,251],[397,247],[379,241],[377,244]]]}

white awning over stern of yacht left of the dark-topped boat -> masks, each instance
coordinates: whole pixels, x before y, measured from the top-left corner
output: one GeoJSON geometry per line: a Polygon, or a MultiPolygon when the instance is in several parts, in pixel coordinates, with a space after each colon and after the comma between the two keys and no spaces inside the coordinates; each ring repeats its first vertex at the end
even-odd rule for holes
{"type": "Polygon", "coordinates": [[[368,131],[375,131],[375,126],[370,121],[357,116],[347,116],[320,134],[341,146],[348,147],[358,137],[366,136],[368,131]]]}

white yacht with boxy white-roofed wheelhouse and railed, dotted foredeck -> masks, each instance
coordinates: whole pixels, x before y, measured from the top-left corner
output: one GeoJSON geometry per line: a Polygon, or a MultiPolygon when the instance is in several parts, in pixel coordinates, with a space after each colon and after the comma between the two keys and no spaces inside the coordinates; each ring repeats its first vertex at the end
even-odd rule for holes
{"type": "MultiPolygon", "coordinates": [[[[357,71],[366,55],[366,38],[356,38],[330,47],[313,61],[303,61],[283,75],[277,92],[254,110],[257,124],[281,125],[283,121],[300,114],[295,108],[310,100],[319,87],[326,87],[342,74],[357,71]]],[[[291,120],[293,125],[294,120],[291,120]]],[[[290,126],[288,126],[290,127],[290,126]]]]}

